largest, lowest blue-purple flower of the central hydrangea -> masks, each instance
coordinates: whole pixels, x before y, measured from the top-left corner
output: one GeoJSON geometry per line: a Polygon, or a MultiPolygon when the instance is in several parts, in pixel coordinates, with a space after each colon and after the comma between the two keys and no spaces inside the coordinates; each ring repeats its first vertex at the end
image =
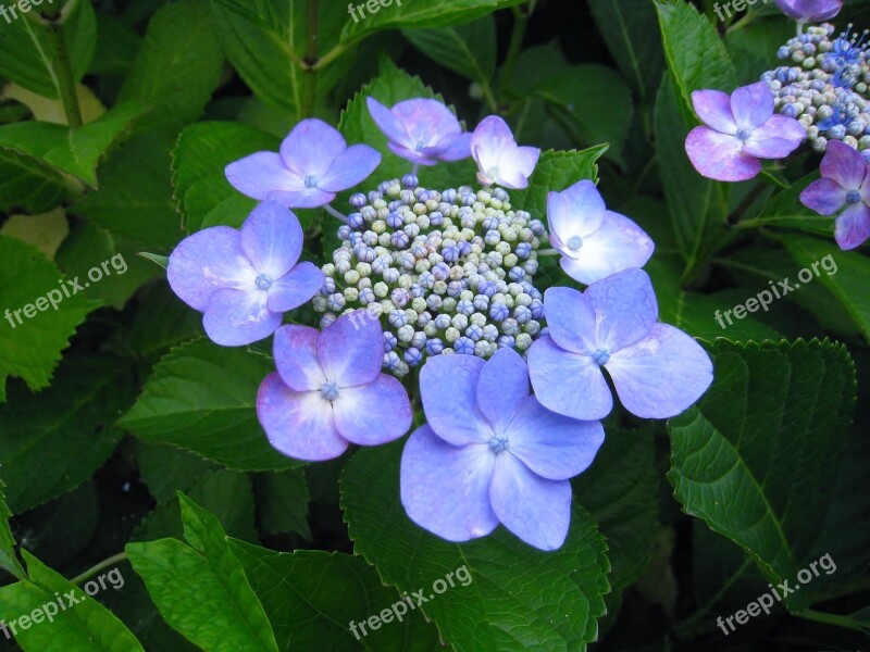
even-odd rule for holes
{"type": "Polygon", "coordinates": [[[592,463],[601,424],[543,408],[511,349],[488,362],[431,358],[420,391],[428,423],[401,456],[401,501],[411,519],[449,541],[484,537],[501,523],[535,548],[559,548],[571,518],[568,479],[592,463]]]}

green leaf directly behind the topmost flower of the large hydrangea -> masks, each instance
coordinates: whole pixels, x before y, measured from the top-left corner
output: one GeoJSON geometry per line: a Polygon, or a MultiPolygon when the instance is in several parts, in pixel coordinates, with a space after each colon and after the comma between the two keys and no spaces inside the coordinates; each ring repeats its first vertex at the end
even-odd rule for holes
{"type": "MultiPolygon", "coordinates": [[[[411,163],[394,154],[387,147],[387,137],[377,127],[369,113],[365,99],[372,97],[386,106],[410,98],[433,98],[444,101],[440,95],[425,86],[420,77],[412,77],[397,68],[389,60],[383,60],[381,74],[353,96],[341,112],[338,129],[349,145],[364,142],[381,152],[381,165],[365,181],[366,188],[377,185],[377,180],[400,178],[411,171],[411,163]]],[[[456,163],[439,163],[433,167],[422,167],[418,174],[421,185],[427,188],[449,188],[474,180],[474,163],[471,159],[456,163]]]]}

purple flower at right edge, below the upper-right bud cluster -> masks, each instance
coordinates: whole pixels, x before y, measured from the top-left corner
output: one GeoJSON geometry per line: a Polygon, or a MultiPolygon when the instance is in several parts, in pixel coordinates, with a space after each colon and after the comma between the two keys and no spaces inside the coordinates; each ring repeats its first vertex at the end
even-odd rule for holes
{"type": "Polygon", "coordinates": [[[805,206],[821,215],[833,215],[834,238],[844,251],[860,247],[870,238],[870,166],[856,150],[830,140],[821,164],[822,178],[800,193],[805,206]]]}

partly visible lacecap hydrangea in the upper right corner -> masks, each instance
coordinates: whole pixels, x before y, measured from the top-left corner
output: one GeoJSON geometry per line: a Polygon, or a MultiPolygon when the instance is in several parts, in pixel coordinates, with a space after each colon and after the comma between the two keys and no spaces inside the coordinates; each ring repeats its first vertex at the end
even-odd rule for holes
{"type": "Polygon", "coordinates": [[[714,89],[693,92],[703,124],[686,137],[686,154],[708,178],[745,181],[761,172],[761,160],[784,159],[809,141],[825,158],[821,181],[805,189],[801,202],[821,215],[836,215],[834,239],[843,250],[855,249],[870,238],[862,191],[870,171],[868,32],[857,34],[849,25],[837,35],[830,23],[805,30],[805,23],[834,17],[843,7],[840,0],[776,4],[797,22],[797,35],[776,52],[787,63],[731,96],[714,89]]]}

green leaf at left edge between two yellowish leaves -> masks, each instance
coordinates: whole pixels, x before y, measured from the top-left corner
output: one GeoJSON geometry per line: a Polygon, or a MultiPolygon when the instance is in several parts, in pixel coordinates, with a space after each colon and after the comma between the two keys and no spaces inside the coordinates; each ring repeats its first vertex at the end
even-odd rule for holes
{"type": "Polygon", "coordinates": [[[44,122],[3,125],[0,126],[0,148],[30,156],[97,188],[98,163],[140,111],[134,103],[120,104],[80,127],[44,122]]]}

